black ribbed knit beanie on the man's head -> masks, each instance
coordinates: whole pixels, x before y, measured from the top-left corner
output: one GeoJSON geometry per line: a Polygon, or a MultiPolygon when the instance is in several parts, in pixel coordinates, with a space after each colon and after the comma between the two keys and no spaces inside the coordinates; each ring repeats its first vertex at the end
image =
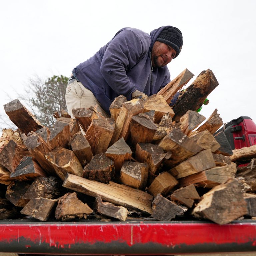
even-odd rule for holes
{"type": "Polygon", "coordinates": [[[175,58],[180,54],[183,41],[182,41],[182,33],[178,28],[175,28],[172,26],[164,28],[162,32],[159,34],[156,41],[159,41],[171,46],[177,53],[175,58]]]}

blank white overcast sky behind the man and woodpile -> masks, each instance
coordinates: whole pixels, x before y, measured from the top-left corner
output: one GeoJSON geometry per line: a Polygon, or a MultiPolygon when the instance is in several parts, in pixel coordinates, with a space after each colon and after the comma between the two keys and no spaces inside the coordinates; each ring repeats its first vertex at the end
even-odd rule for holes
{"type": "Polygon", "coordinates": [[[5,92],[17,98],[35,74],[69,76],[119,29],[172,25],[182,31],[183,48],[168,64],[171,79],[185,68],[195,77],[209,68],[219,82],[200,114],[208,118],[217,108],[223,122],[242,115],[256,122],[254,0],[9,0],[0,7],[1,114],[10,101],[5,92]]]}

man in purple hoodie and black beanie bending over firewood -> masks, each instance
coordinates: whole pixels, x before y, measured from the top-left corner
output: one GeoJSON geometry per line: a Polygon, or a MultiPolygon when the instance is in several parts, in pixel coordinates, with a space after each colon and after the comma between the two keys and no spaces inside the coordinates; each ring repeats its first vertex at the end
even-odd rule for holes
{"type": "Polygon", "coordinates": [[[113,39],[72,71],[66,89],[66,104],[72,109],[97,105],[109,117],[113,100],[124,95],[127,100],[145,99],[170,82],[166,65],[182,48],[178,28],[164,26],[150,35],[135,28],[119,30],[113,39]]]}

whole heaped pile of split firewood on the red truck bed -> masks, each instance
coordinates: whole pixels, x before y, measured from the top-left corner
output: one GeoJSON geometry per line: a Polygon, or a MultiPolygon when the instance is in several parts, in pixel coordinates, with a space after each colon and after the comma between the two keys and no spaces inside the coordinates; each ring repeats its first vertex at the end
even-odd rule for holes
{"type": "Polygon", "coordinates": [[[18,130],[0,139],[0,219],[125,221],[136,213],[225,224],[256,216],[255,164],[236,167],[256,157],[255,147],[232,152],[223,131],[215,134],[217,110],[206,121],[196,112],[218,85],[212,71],[169,106],[191,77],[184,70],[144,102],[117,97],[111,118],[94,107],[73,109],[75,119],[56,112],[52,131],[18,99],[4,105],[18,130]]]}

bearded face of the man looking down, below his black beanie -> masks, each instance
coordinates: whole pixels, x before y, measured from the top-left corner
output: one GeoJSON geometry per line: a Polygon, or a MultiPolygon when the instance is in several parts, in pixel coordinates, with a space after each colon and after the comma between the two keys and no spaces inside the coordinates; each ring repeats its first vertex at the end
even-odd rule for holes
{"type": "Polygon", "coordinates": [[[152,52],[152,66],[153,68],[161,68],[166,66],[176,56],[176,51],[169,45],[155,41],[152,52]]]}

